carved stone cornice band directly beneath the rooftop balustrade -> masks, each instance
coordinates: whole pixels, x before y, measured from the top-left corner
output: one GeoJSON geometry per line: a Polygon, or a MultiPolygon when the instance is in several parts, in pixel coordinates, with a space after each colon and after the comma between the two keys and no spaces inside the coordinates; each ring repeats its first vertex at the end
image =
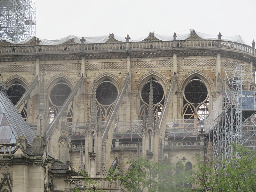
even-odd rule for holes
{"type": "MultiPolygon", "coordinates": [[[[148,58],[148,57],[172,57],[173,53],[177,56],[217,56],[229,57],[244,61],[253,61],[255,56],[251,53],[239,49],[219,48],[219,47],[176,47],[176,48],[151,48],[151,49],[130,49],[131,58],[148,58]]],[[[95,50],[95,51],[56,51],[56,52],[14,52],[0,53],[0,62],[15,61],[35,61],[39,57],[42,61],[47,60],[85,60],[92,59],[124,59],[127,57],[124,49],[119,50],[95,50]]]]}

